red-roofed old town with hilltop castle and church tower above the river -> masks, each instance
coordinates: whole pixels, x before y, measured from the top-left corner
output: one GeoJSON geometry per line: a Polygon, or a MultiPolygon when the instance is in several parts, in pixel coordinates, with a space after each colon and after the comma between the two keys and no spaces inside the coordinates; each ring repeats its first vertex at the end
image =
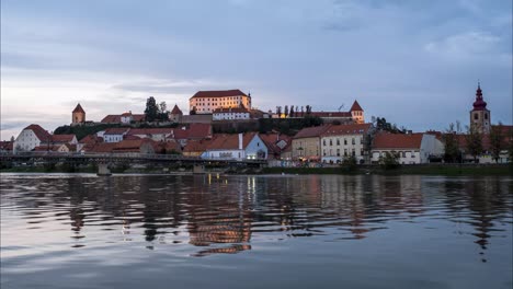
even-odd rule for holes
{"type": "Polygon", "coordinates": [[[2,141],[0,152],[180,154],[266,160],[270,166],[511,162],[513,126],[492,125],[479,84],[470,108],[465,131],[451,124],[445,131],[413,132],[385,118],[365,119],[357,101],[347,112],[318,112],[310,105],[262,112],[240,90],[198,91],[189,100],[189,115],[149,97],[141,114],[93,122],[78,104],[70,125],[49,134],[31,124],[2,141]]]}

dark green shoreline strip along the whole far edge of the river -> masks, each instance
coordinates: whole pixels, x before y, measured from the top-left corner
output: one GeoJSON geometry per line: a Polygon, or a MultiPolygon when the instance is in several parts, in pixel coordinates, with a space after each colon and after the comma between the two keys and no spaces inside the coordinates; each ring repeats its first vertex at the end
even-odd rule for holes
{"type": "MultiPolygon", "coordinates": [[[[191,173],[192,167],[112,167],[115,174],[174,174],[191,173]]],[[[13,166],[0,170],[0,173],[93,173],[98,169],[94,165],[88,166],[13,166]]],[[[385,169],[379,165],[364,165],[356,167],[331,166],[331,167],[206,167],[205,173],[221,174],[285,174],[285,175],[308,175],[308,174],[335,174],[335,175],[441,175],[441,176],[476,176],[476,175],[513,175],[513,165],[511,164],[424,164],[424,165],[401,165],[395,169],[385,169]]]]}

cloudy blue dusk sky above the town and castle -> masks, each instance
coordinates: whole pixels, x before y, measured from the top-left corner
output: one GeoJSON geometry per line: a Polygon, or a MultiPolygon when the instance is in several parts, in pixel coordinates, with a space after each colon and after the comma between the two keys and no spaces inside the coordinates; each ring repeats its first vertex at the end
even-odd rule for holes
{"type": "Polygon", "coordinates": [[[511,0],[2,0],[0,55],[2,140],[230,89],[424,131],[468,125],[480,81],[513,123],[511,0]]]}

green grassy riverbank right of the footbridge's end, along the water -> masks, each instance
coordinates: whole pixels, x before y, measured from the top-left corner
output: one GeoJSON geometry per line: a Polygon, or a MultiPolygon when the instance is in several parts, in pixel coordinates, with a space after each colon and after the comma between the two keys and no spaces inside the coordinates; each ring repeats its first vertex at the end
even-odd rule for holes
{"type": "Polygon", "coordinates": [[[392,170],[379,166],[361,166],[356,170],[344,167],[265,167],[264,174],[380,174],[380,175],[513,175],[513,166],[503,165],[408,165],[392,170]]]}

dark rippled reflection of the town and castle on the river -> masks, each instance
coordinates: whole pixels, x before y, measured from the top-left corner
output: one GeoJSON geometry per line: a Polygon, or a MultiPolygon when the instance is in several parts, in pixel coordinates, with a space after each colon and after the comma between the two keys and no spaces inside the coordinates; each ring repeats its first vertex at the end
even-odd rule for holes
{"type": "MultiPolygon", "coordinates": [[[[511,227],[513,208],[512,181],[501,178],[2,176],[1,192],[2,234],[52,233],[68,226],[73,248],[140,242],[149,250],[191,246],[193,256],[304,236],[365,240],[398,222],[428,230],[444,220],[456,224],[455,235],[471,235],[487,262],[490,239],[511,238],[504,228],[511,227]],[[24,229],[14,226],[20,218],[24,229]]],[[[61,238],[56,234],[53,241],[64,242],[61,238]]],[[[5,241],[9,245],[15,238],[5,241]]]]}

